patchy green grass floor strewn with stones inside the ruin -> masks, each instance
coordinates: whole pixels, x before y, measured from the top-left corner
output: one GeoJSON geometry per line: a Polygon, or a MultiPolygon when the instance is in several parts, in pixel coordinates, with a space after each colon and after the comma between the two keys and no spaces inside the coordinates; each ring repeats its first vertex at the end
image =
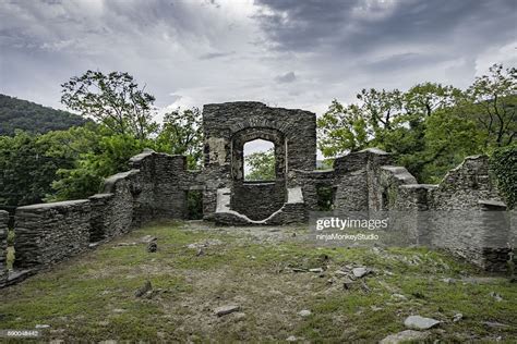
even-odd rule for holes
{"type": "Polygon", "coordinates": [[[286,234],[270,239],[264,229],[149,225],[1,290],[0,329],[50,324],[45,340],[67,342],[277,342],[290,335],[375,342],[404,330],[404,319],[418,314],[443,321],[431,333],[444,342],[517,340],[517,287],[504,277],[462,282],[486,275],[440,251],[316,247],[301,238],[304,229],[280,231],[286,234]],[[292,238],[291,232],[300,235],[292,238]],[[155,254],[145,244],[117,245],[147,234],[158,238],[155,254]],[[202,255],[188,248],[206,241],[214,244],[202,255]],[[345,290],[342,278],[333,277],[347,266],[373,269],[362,279],[369,291],[360,283],[345,290]],[[326,269],[322,277],[292,272],[316,267],[326,269]],[[445,283],[445,278],[457,281],[445,283]],[[147,280],[160,292],[152,299],[136,298],[134,291],[147,280]],[[228,304],[240,305],[244,316],[214,315],[214,308],[228,304]],[[301,309],[312,315],[301,318],[301,309]],[[453,322],[457,312],[464,319],[453,322]],[[506,327],[490,328],[486,321],[506,327]]]}

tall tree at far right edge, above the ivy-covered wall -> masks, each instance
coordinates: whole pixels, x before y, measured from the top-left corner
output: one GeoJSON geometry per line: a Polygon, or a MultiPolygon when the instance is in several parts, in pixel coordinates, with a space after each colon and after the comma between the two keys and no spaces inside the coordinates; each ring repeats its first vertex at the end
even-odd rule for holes
{"type": "Polygon", "coordinates": [[[494,64],[489,72],[467,89],[464,111],[486,131],[485,147],[503,147],[517,135],[517,69],[504,70],[502,64],[494,64]]]}

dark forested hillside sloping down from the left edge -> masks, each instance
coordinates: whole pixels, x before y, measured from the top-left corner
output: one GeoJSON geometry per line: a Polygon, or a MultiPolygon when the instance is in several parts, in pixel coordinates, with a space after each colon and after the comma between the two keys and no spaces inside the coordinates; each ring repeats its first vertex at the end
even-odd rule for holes
{"type": "Polygon", "coordinates": [[[13,135],[14,130],[44,134],[84,122],[76,114],[0,94],[0,135],[13,135]]]}

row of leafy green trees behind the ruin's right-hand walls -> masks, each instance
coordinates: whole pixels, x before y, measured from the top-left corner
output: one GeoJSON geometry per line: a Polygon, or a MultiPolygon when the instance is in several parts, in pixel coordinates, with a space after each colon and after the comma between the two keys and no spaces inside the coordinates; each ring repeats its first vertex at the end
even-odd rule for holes
{"type": "Polygon", "coordinates": [[[494,64],[465,90],[436,83],[407,91],[362,89],[358,101],[334,99],[317,120],[327,158],[378,147],[420,182],[437,183],[461,160],[508,146],[517,132],[517,73],[494,64]]]}

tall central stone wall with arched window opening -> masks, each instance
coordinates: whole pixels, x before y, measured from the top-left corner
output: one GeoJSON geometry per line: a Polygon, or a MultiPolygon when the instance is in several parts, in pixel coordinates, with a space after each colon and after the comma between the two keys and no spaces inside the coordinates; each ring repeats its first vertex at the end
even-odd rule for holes
{"type": "MultiPolygon", "coordinates": [[[[205,219],[224,223],[235,219],[253,224],[280,211],[288,219],[286,221],[294,221],[300,207],[297,211],[292,210],[292,206],[286,207],[289,188],[299,186],[292,185],[290,171],[315,169],[315,114],[269,108],[260,102],[207,105],[203,108],[203,128],[205,219]],[[244,181],[243,147],[257,138],[275,145],[274,184],[258,185],[244,181]],[[228,211],[230,213],[224,213],[228,211]],[[285,216],[287,212],[290,212],[289,217],[285,216]]],[[[300,202],[303,204],[302,199],[300,202]]],[[[306,213],[302,213],[298,221],[305,217],[306,213]]]]}

